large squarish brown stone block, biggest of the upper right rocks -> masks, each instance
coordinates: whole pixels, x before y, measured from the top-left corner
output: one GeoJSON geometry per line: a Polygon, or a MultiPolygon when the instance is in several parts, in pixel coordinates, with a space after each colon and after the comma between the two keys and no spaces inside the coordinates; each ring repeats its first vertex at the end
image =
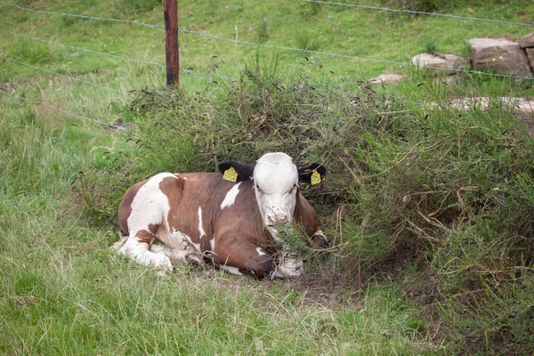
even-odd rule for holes
{"type": "Polygon", "coordinates": [[[531,77],[527,53],[518,43],[506,39],[472,38],[469,40],[471,61],[475,69],[492,69],[498,73],[531,77]]]}

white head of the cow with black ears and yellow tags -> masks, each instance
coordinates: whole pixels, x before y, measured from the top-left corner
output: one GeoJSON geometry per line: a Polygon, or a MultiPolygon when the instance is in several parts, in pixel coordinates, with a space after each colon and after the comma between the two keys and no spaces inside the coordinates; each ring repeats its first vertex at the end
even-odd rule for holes
{"type": "Polygon", "coordinates": [[[297,203],[298,182],[312,182],[312,175],[319,174],[319,182],[326,174],[326,168],[317,163],[307,166],[296,165],[285,153],[267,153],[254,165],[227,161],[219,164],[224,173],[233,168],[236,181],[254,180],[256,202],[262,214],[263,223],[276,233],[275,225],[293,223],[297,203]]]}

